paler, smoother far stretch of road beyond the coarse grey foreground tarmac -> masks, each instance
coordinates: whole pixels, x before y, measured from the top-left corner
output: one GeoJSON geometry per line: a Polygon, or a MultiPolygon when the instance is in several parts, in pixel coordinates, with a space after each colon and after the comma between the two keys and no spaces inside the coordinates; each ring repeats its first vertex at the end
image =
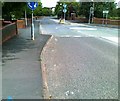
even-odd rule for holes
{"type": "Polygon", "coordinates": [[[96,37],[118,43],[118,28],[91,26],[89,24],[68,23],[59,25],[56,19],[46,18],[41,22],[44,34],[58,37],[96,37]],[[47,25],[47,26],[46,26],[47,25]],[[64,29],[64,31],[63,31],[64,29]]]}

